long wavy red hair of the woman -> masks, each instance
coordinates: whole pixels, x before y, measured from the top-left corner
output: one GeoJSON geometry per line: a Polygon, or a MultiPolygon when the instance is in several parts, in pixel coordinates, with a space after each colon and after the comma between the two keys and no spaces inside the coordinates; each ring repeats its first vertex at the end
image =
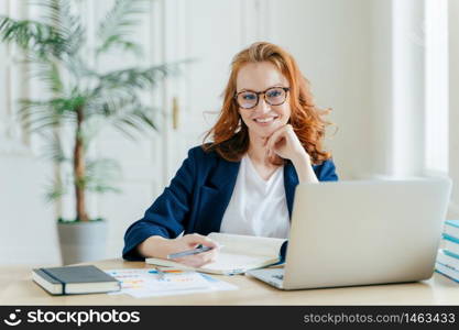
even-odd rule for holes
{"type": "MultiPolygon", "coordinates": [[[[287,52],[266,42],[258,42],[238,53],[231,63],[231,74],[223,91],[223,106],[217,123],[204,138],[203,148],[206,152],[216,151],[222,158],[238,162],[249,150],[249,130],[241,120],[238,105],[234,100],[236,79],[242,66],[249,63],[270,62],[285,76],[289,82],[289,106],[292,124],[303,147],[306,150],[313,164],[331,157],[324,151],[323,140],[325,129],[329,122],[321,116],[329,112],[318,109],[309,89],[309,81],[303,77],[295,59],[287,52]],[[211,135],[212,142],[205,143],[211,135]]],[[[273,160],[274,164],[283,164],[283,160],[273,160]]]]}

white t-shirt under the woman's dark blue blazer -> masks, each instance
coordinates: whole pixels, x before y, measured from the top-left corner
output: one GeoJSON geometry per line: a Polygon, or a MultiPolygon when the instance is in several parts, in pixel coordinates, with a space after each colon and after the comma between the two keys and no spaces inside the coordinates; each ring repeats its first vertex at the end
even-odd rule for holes
{"type": "Polygon", "coordinates": [[[277,168],[264,180],[245,154],[220,232],[287,239],[288,231],[284,167],[277,168]]]}

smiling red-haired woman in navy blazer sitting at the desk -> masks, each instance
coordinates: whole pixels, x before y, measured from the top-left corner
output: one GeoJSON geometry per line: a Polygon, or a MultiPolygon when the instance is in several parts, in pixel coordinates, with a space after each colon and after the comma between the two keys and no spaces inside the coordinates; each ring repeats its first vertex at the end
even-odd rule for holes
{"type": "Polygon", "coordinates": [[[170,187],[128,229],[123,257],[215,248],[176,260],[201,266],[218,254],[210,232],[287,238],[298,182],[338,179],[321,146],[320,114],[281,47],[255,43],[237,54],[220,118],[206,136],[212,142],[188,152],[170,187]]]}

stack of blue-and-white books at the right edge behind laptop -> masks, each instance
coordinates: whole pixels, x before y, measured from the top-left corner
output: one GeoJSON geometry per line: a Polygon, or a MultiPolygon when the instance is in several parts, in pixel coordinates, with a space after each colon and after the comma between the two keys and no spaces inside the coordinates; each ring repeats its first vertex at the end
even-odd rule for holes
{"type": "Polygon", "coordinates": [[[459,282],[459,220],[447,220],[442,233],[442,246],[438,250],[435,270],[459,282]]]}

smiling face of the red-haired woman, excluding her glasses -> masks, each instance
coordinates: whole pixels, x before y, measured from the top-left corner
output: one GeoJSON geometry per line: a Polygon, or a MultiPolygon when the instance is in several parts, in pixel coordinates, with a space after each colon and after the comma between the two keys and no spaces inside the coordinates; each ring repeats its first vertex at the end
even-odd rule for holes
{"type": "MultiPolygon", "coordinates": [[[[270,62],[249,63],[238,73],[236,81],[237,94],[241,91],[266,91],[272,87],[289,87],[288,80],[282,73],[270,62]]],[[[291,117],[291,107],[288,103],[288,94],[285,102],[280,106],[271,106],[265,101],[265,97],[275,99],[276,90],[267,91],[267,95],[259,95],[259,102],[252,109],[239,107],[239,113],[245,125],[249,128],[250,140],[265,139],[280,127],[286,124],[291,117]]],[[[250,96],[248,97],[250,101],[250,96]]],[[[276,102],[271,102],[276,103],[276,102]]]]}

